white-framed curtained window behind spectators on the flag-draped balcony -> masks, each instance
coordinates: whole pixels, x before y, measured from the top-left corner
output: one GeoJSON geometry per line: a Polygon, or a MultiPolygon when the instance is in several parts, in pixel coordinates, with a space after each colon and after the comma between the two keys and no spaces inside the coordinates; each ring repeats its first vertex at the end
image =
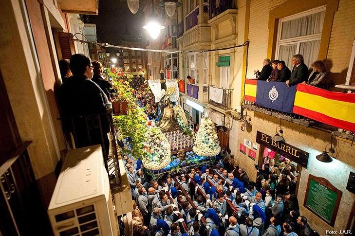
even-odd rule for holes
{"type": "Polygon", "coordinates": [[[302,54],[309,66],[318,59],[320,38],[325,16],[325,6],[279,21],[276,58],[284,60],[292,70],[292,56],[302,54]]]}

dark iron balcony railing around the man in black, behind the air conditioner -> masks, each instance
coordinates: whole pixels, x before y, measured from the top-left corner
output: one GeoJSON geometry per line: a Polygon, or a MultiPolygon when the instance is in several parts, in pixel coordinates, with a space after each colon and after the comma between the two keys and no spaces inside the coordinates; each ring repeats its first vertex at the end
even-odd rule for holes
{"type": "Polygon", "coordinates": [[[105,167],[115,178],[115,183],[121,183],[121,173],[118,163],[118,151],[115,129],[112,120],[112,109],[106,113],[61,117],[66,139],[72,147],[84,147],[100,144],[105,167]],[[109,134],[109,135],[108,135],[109,134]],[[71,137],[73,136],[73,141],[71,137]],[[111,155],[110,155],[111,154],[111,155]],[[112,166],[109,166],[109,161],[112,166]]]}

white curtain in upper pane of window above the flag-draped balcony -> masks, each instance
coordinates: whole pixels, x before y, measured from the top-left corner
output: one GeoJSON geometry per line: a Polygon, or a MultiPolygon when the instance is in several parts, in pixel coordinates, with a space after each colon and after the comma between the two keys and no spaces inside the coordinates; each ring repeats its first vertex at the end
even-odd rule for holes
{"type": "Polygon", "coordinates": [[[322,32],[325,11],[282,22],[281,39],[322,32]]]}

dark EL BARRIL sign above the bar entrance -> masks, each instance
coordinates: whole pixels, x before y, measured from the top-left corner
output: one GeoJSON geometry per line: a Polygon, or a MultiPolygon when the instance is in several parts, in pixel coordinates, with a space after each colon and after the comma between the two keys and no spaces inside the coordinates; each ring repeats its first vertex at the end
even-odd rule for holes
{"type": "Polygon", "coordinates": [[[266,135],[260,131],[257,131],[256,141],[258,144],[264,145],[267,148],[276,151],[282,156],[307,168],[308,157],[309,157],[308,152],[305,152],[295,146],[286,143],[273,141],[271,139],[271,136],[266,135]]]}

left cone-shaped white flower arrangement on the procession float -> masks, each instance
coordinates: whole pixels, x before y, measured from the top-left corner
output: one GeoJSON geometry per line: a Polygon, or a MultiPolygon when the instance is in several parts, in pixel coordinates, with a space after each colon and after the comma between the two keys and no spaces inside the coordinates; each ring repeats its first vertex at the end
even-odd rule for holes
{"type": "Polygon", "coordinates": [[[149,155],[142,160],[144,167],[150,170],[160,170],[166,167],[171,161],[171,147],[168,139],[158,127],[149,127],[145,136],[144,148],[149,155]]]}

